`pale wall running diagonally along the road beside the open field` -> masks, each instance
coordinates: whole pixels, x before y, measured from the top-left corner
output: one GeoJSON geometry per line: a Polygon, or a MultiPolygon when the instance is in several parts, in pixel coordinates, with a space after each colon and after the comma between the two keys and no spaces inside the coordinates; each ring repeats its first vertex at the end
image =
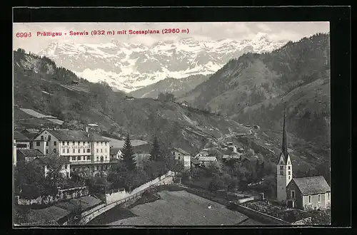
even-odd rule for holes
{"type": "MultiPolygon", "coordinates": [[[[94,219],[96,216],[99,216],[100,214],[103,214],[106,211],[109,211],[109,209],[112,209],[120,204],[126,204],[127,202],[135,202],[134,200],[137,200],[141,197],[142,194],[144,194],[144,192],[146,192],[147,190],[151,190],[154,189],[157,186],[164,186],[164,185],[168,185],[168,184],[173,184],[174,182],[174,172],[168,172],[166,174],[164,174],[161,177],[158,177],[156,179],[159,179],[158,182],[151,184],[149,186],[146,186],[145,188],[142,188],[143,185],[148,185],[148,183],[143,184],[142,186],[134,189],[133,191],[131,191],[130,194],[128,194],[127,197],[124,197],[122,199],[119,199],[115,202],[111,202],[109,204],[106,204],[104,206],[99,206],[96,207],[96,209],[93,209],[93,211],[91,212],[91,214],[87,214],[86,216],[81,218],[81,224],[87,224],[89,221],[91,221],[92,219],[94,219]],[[166,182],[167,181],[167,182],[166,182]],[[137,189],[140,189],[137,190],[137,189]],[[139,192],[138,192],[139,191],[139,192]]],[[[156,181],[156,179],[152,180],[151,182],[156,181]]]]}

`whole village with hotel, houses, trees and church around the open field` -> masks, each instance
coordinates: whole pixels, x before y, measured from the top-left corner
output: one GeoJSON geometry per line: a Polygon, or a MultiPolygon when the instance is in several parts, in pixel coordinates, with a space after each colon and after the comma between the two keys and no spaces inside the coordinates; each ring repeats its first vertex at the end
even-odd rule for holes
{"type": "Polygon", "coordinates": [[[34,194],[33,190],[27,189],[27,184],[31,184],[29,179],[26,183],[16,181],[15,204],[18,217],[22,218],[17,218],[16,224],[87,224],[115,206],[135,203],[150,189],[165,185],[176,185],[213,202],[226,204],[227,208],[256,221],[255,224],[319,224],[321,218],[324,223],[328,221],[325,212],[321,216],[321,211],[329,213],[331,205],[331,189],[326,179],[322,176],[293,177],[285,116],[274,184],[266,182],[261,165],[258,161],[252,163],[254,157],[246,155],[243,145],[238,142],[221,142],[195,153],[181,147],[171,147],[159,153],[156,139],[152,143],[128,147],[131,145],[129,135],[123,147],[114,147],[109,138],[96,132],[97,126],[96,123],[88,124],[85,130],[56,127],[14,130],[16,175],[32,179],[34,176],[25,175],[26,170],[29,165],[36,165],[39,170],[36,177],[49,179],[54,183],[51,187],[55,188],[52,192],[43,190],[34,194]],[[133,168],[128,167],[124,157],[129,149],[136,165],[133,168]],[[223,153],[223,157],[218,158],[216,152],[223,153]],[[170,155],[174,162],[162,155],[170,155]],[[150,160],[156,163],[148,164],[150,160]],[[123,162],[128,169],[121,169],[123,162]],[[240,174],[239,177],[246,176],[245,187],[233,182],[234,179],[224,182],[222,166],[243,169],[245,165],[250,167],[244,169],[252,169],[255,174],[255,177],[252,172],[240,174]],[[56,181],[61,178],[59,174],[63,179],[56,181]],[[265,194],[264,184],[274,185],[276,194],[265,194]],[[24,214],[27,219],[23,219],[24,214]]]}

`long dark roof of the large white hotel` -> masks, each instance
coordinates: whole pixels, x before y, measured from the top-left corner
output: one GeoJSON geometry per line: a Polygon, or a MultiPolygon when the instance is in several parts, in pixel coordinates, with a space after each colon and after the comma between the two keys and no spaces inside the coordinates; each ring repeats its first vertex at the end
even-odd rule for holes
{"type": "Polygon", "coordinates": [[[54,135],[59,141],[102,141],[110,142],[110,140],[95,133],[88,133],[84,130],[46,130],[54,135]],[[89,134],[89,136],[88,136],[89,134]]]}

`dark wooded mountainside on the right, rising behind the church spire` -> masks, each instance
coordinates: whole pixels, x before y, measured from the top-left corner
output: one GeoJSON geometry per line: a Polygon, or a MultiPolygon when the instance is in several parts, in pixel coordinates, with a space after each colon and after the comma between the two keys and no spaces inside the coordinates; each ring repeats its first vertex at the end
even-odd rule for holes
{"type": "Polygon", "coordinates": [[[329,33],[318,33],[271,53],[246,53],[180,100],[274,130],[286,107],[288,132],[328,149],[329,50],[329,33]]]}

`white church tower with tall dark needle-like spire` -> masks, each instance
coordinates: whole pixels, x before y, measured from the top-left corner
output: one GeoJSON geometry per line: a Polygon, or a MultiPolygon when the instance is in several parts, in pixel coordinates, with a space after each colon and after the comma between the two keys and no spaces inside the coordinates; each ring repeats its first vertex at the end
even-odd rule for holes
{"type": "Polygon", "coordinates": [[[285,110],[283,122],[283,144],[278,164],[276,165],[276,198],[282,202],[286,200],[286,186],[293,179],[293,166],[288,154],[288,142],[286,141],[285,110]]]}

